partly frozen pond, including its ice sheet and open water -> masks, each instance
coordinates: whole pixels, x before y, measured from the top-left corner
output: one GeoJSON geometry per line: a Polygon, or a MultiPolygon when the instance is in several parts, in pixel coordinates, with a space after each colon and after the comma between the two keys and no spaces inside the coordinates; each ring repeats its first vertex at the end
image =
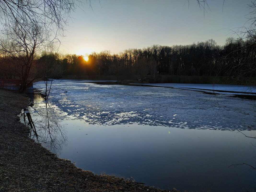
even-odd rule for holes
{"type": "Polygon", "coordinates": [[[97,174],[167,190],[252,190],[256,171],[230,165],[255,166],[256,138],[242,134],[256,136],[255,101],[229,96],[62,80],[21,120],[30,114],[31,138],[97,174]]]}

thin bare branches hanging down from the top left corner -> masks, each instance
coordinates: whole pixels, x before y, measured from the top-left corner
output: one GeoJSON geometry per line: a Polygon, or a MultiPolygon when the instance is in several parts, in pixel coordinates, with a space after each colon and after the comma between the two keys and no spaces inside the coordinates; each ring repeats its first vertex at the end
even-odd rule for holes
{"type": "Polygon", "coordinates": [[[28,23],[53,32],[57,37],[63,35],[71,12],[79,4],[81,2],[75,0],[1,0],[1,23],[10,25],[17,22],[17,26],[24,27],[25,19],[28,23]]]}

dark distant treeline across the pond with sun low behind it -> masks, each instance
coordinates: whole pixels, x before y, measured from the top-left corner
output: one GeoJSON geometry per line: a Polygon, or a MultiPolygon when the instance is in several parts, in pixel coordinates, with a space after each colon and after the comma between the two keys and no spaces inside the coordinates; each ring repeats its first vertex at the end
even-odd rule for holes
{"type": "MultiPolygon", "coordinates": [[[[88,56],[88,61],[83,56],[44,52],[36,62],[40,66],[37,69],[44,71],[45,77],[54,78],[63,75],[115,75],[117,80],[134,76],[137,79],[145,76],[154,79],[159,75],[255,77],[255,48],[254,38],[246,41],[228,38],[224,46],[209,39],[191,45],[153,45],[143,49],[128,49],[119,54],[93,52],[88,56]]],[[[0,78],[7,71],[2,70],[0,78]]],[[[14,74],[10,70],[9,73],[14,74]]]]}

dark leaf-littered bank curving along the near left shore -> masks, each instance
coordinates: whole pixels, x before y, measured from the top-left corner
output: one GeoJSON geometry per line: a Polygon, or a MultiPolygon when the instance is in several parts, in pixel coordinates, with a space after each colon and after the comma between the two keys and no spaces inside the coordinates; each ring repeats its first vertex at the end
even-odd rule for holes
{"type": "Polygon", "coordinates": [[[130,180],[94,175],[60,159],[28,137],[17,114],[25,95],[0,90],[0,191],[166,191],[130,180]]]}

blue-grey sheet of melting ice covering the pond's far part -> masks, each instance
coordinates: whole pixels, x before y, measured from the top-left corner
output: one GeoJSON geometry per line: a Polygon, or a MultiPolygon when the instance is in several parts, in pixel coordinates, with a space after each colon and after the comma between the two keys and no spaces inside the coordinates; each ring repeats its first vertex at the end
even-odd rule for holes
{"type": "MultiPolygon", "coordinates": [[[[89,124],[145,124],[220,130],[234,130],[233,125],[250,130],[255,124],[256,111],[252,100],[165,88],[168,87],[167,84],[164,84],[165,87],[136,87],[98,85],[85,83],[86,81],[56,82],[50,101],[68,115],[89,124]]],[[[188,87],[189,84],[172,83],[169,86],[188,87]]],[[[195,86],[198,89],[212,88],[210,84],[190,84],[190,87],[195,86]]],[[[34,84],[34,88],[44,87],[44,82],[34,84]]],[[[242,86],[218,84],[215,88],[228,91],[248,90],[242,86]]]]}

